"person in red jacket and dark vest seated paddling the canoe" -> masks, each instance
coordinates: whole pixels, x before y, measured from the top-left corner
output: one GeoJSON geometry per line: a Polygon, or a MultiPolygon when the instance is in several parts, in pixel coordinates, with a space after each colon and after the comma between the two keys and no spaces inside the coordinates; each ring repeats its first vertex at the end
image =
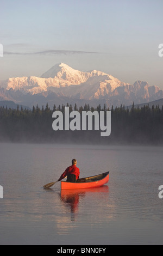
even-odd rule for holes
{"type": "Polygon", "coordinates": [[[67,176],[67,182],[76,182],[79,179],[80,170],[77,167],[77,160],[72,160],[72,166],[68,167],[64,173],[60,176],[59,180],[64,179],[67,176]]]}

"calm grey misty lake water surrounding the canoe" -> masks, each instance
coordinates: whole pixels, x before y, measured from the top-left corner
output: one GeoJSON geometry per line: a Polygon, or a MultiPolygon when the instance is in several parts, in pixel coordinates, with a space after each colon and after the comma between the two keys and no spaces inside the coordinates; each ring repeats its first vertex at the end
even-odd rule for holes
{"type": "Polygon", "coordinates": [[[1,245],[160,244],[162,147],[0,144],[1,245]],[[108,185],[60,192],[56,181],[78,160],[80,178],[110,170],[108,185]]]}

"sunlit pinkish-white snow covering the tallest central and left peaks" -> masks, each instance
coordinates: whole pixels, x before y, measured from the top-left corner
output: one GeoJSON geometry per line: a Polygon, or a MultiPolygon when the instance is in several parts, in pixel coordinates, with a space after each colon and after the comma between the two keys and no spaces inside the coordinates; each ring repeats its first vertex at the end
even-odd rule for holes
{"type": "Polygon", "coordinates": [[[87,99],[92,97],[97,99],[99,95],[108,94],[109,90],[124,85],[126,84],[104,72],[97,70],[82,72],[64,63],[53,66],[41,77],[14,77],[1,83],[1,86],[7,90],[12,88],[23,93],[39,94],[52,91],[66,96],[81,94],[81,97],[87,99]],[[66,87],[70,88],[66,90],[64,89],[66,87]]]}

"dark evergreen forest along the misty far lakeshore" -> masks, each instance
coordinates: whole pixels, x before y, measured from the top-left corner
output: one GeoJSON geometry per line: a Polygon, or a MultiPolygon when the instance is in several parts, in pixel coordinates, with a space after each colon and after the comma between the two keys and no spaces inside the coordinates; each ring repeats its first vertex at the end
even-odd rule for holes
{"type": "Polygon", "coordinates": [[[54,131],[52,129],[54,111],[64,115],[65,106],[47,105],[33,109],[11,109],[0,107],[0,141],[40,142],[40,143],[86,143],[86,144],[163,144],[163,106],[106,108],[98,105],[70,107],[70,112],[111,111],[111,135],[101,137],[101,131],[54,131]]]}

